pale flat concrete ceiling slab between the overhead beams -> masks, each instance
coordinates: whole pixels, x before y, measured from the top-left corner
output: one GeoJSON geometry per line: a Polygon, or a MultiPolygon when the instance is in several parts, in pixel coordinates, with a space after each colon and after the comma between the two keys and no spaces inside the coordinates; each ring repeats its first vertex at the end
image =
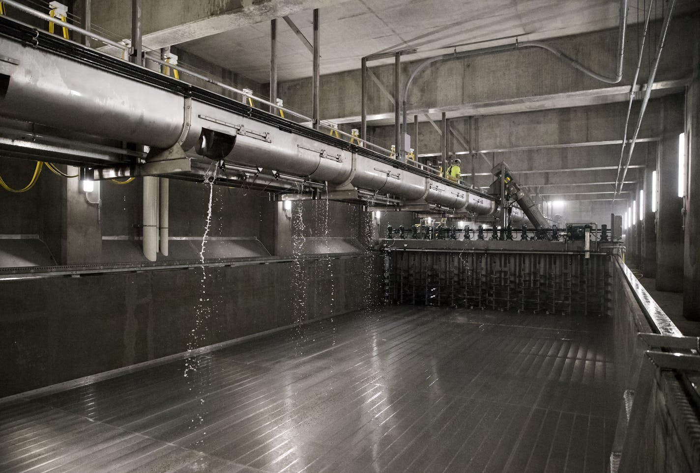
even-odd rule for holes
{"type": "MultiPolygon", "coordinates": [[[[629,1],[629,22],[643,21],[638,13],[643,2],[629,1]]],[[[524,41],[613,28],[618,24],[618,7],[617,0],[349,0],[319,11],[321,73],[358,69],[361,57],[377,52],[417,48],[416,54],[405,58],[415,60],[447,52],[444,48],[450,45],[480,42],[458,47],[467,50],[511,43],[514,38],[507,37],[514,35],[524,41]]],[[[678,0],[675,11],[694,8],[696,0],[678,0]]],[[[311,11],[290,18],[311,41],[311,11]]],[[[279,80],[311,76],[309,50],[281,19],[277,30],[279,80]]],[[[264,21],[179,47],[267,83],[269,34],[269,21],[264,21]]]]}

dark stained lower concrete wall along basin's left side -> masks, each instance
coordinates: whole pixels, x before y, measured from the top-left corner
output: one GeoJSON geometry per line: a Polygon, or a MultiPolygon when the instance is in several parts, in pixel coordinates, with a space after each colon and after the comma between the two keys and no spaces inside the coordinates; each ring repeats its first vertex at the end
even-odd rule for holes
{"type": "Polygon", "coordinates": [[[380,275],[367,254],[211,268],[204,290],[200,269],[3,281],[0,397],[363,309],[380,275]]]}

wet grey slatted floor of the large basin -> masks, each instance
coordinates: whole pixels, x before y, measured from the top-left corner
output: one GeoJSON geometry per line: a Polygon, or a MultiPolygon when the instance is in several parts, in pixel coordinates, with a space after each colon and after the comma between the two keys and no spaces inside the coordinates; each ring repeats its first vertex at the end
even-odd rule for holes
{"type": "Polygon", "coordinates": [[[2,472],[605,472],[610,320],[386,308],[0,408],[2,472]]]}

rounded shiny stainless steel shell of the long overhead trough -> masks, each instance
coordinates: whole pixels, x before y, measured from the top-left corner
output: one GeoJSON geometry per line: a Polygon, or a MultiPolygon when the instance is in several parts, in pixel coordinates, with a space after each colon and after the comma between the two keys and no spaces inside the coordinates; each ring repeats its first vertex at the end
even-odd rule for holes
{"type": "Polygon", "coordinates": [[[200,154],[202,143],[218,136],[226,145],[218,148],[226,160],[331,185],[351,183],[408,203],[426,202],[477,216],[496,211],[489,197],[398,163],[359,155],[8,38],[0,38],[0,49],[18,62],[0,62],[0,74],[9,76],[0,115],[8,118],[151,148],[180,143],[186,151],[200,154]]]}

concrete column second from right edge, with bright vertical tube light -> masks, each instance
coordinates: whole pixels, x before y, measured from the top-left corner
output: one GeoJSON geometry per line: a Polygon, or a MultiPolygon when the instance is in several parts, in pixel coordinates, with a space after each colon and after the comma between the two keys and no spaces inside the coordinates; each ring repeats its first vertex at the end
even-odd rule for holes
{"type": "Polygon", "coordinates": [[[659,125],[657,172],[659,214],[657,217],[657,290],[682,292],[683,246],[682,199],[678,197],[678,134],[683,130],[684,97],[664,97],[659,125]]]}

